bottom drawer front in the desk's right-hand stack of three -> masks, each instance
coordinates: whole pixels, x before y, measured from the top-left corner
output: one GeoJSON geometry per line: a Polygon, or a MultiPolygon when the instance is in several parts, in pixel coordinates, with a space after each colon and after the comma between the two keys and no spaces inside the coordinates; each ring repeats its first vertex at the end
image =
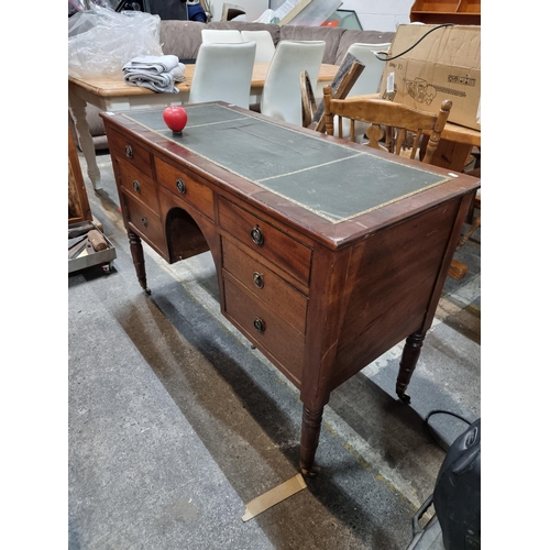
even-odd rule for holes
{"type": "Polygon", "coordinates": [[[227,317],[299,387],[304,364],[304,336],[227,273],[223,288],[227,317]]]}

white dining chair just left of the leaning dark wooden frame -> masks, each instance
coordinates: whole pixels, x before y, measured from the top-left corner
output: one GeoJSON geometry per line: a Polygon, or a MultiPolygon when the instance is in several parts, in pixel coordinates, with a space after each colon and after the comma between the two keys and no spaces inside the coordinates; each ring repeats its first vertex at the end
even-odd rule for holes
{"type": "Polygon", "coordinates": [[[315,90],[324,54],[324,41],[277,44],[265,76],[260,112],[301,127],[300,73],[307,70],[315,90]]]}

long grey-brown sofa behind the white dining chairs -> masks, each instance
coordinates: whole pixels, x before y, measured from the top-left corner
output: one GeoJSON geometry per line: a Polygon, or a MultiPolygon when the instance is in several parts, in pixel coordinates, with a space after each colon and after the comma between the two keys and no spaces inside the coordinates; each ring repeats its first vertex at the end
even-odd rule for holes
{"type": "MultiPolygon", "coordinates": [[[[275,45],[282,40],[322,40],[327,43],[322,63],[340,65],[345,57],[348,48],[356,42],[382,44],[392,42],[394,32],[359,31],[337,26],[293,26],[252,23],[245,21],[211,21],[200,23],[184,20],[161,21],[161,44],[164,54],[176,55],[183,63],[193,63],[202,43],[202,29],[238,29],[238,30],[267,30],[273,36],[275,45]]],[[[88,105],[87,121],[94,139],[96,151],[107,150],[103,122],[98,114],[98,109],[88,105]]],[[[74,129],[74,120],[69,113],[69,124],[74,129]]],[[[80,144],[74,132],[76,144],[80,144]]]]}

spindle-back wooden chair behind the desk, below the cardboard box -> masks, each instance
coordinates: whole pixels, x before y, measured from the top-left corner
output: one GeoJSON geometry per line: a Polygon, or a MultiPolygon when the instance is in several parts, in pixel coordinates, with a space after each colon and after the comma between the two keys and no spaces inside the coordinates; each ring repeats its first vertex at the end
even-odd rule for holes
{"type": "Polygon", "coordinates": [[[339,132],[342,135],[342,119],[350,120],[350,140],[355,141],[355,121],[369,123],[366,130],[369,145],[386,150],[397,155],[416,158],[424,132],[431,132],[426,154],[421,162],[429,164],[438,146],[441,132],[449,118],[452,102],[444,100],[437,114],[419,111],[411,107],[394,103],[370,96],[353,96],[334,99],[332,88],[323,88],[324,124],[329,135],[334,135],[334,117],[339,117],[339,132]],[[381,141],[385,140],[385,146],[381,141]],[[405,154],[405,151],[407,154],[405,154]]]}

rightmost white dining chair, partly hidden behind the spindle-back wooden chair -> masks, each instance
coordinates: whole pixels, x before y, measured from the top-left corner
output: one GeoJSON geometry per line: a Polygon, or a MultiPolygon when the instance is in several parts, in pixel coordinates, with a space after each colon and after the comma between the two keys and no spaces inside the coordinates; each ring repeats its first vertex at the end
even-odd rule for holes
{"type": "MultiPolygon", "coordinates": [[[[376,94],[380,90],[380,84],[386,63],[384,62],[384,55],[381,55],[381,58],[378,58],[375,54],[376,52],[387,52],[391,45],[391,43],[365,44],[358,42],[348,48],[348,54],[356,57],[365,68],[355,80],[355,84],[352,86],[346,97],[366,96],[369,94],[376,94]]],[[[338,118],[336,119],[336,123],[338,124],[338,118]]],[[[366,123],[355,122],[355,138],[363,135],[366,129],[366,123]]],[[[342,120],[342,134],[344,138],[349,138],[350,135],[349,119],[342,120]]]]}

